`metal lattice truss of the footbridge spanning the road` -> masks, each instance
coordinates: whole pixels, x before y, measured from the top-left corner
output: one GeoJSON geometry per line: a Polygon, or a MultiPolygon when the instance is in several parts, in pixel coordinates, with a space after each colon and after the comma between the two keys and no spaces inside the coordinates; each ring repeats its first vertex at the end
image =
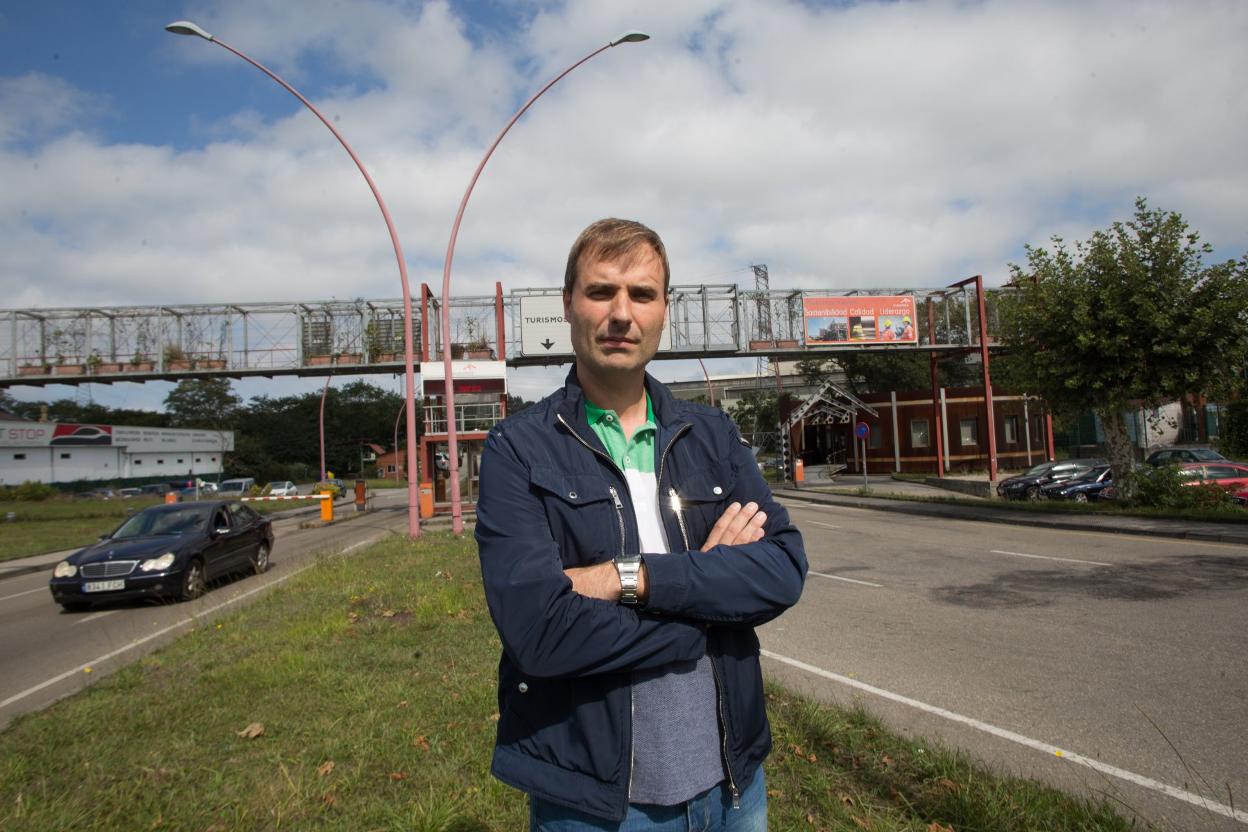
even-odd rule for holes
{"type": "MultiPolygon", "coordinates": [[[[676,286],[670,348],[659,358],[810,358],[837,351],[978,349],[980,309],[993,327],[995,292],[981,281],[946,289],[758,291],[735,284],[676,286]],[[917,344],[807,346],[804,298],[911,294],[917,344]]],[[[522,298],[558,288],[452,298],[452,356],[503,359],[512,367],[560,364],[567,353],[522,351],[522,298]]],[[[442,356],[437,298],[422,287],[414,312],[417,358],[442,356]]],[[[990,346],[992,343],[988,336],[990,346]]],[[[251,375],[396,373],[403,367],[398,299],[0,309],[0,387],[251,375]]]]}

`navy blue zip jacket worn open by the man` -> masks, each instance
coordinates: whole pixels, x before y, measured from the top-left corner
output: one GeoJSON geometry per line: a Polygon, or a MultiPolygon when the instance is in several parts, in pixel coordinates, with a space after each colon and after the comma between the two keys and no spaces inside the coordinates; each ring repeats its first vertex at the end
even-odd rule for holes
{"type": "Polygon", "coordinates": [[[623,473],[567,385],[485,440],[477,543],[498,665],[495,777],[548,801],[620,820],[631,776],[634,670],[710,655],[725,776],[744,790],[771,748],[754,626],[797,602],[801,534],[771,496],[736,425],[646,377],[668,540],[646,555],[643,607],[578,595],[563,574],[640,550],[623,473]],[[700,553],[733,501],[768,514],[763,540],[700,553]]]}

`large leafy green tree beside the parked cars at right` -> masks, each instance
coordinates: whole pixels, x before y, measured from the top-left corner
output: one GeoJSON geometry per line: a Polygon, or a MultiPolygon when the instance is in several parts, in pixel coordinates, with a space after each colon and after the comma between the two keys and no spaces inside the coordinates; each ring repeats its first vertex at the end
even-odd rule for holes
{"type": "Polygon", "coordinates": [[[1113,480],[1134,496],[1124,414],[1189,393],[1218,395],[1248,357],[1248,254],[1204,264],[1212,247],[1182,216],[1136,201],[1134,217],[1071,251],[1027,247],[1011,264],[1001,339],[1011,377],[1055,412],[1092,410],[1113,480]]]}

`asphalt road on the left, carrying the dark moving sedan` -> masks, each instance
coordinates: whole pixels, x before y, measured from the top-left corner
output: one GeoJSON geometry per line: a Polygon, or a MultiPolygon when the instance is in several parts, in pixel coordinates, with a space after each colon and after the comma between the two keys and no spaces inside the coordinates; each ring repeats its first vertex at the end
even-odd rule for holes
{"type": "Polygon", "coordinates": [[[192,625],[260,597],[266,588],[314,563],[317,555],[406,533],[404,498],[399,489],[382,491],[377,511],[324,528],[300,529],[306,516],[277,520],[267,573],[218,581],[188,604],[141,601],[65,612],[52,601],[46,571],[0,581],[0,727],[19,713],[86,687],[192,625]]]}

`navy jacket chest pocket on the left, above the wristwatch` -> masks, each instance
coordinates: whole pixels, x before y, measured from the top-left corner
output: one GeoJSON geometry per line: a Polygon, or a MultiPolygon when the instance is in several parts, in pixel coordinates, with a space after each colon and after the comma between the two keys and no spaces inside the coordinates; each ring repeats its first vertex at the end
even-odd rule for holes
{"type": "Polygon", "coordinates": [[[545,508],[564,566],[597,564],[624,553],[623,495],[600,474],[534,467],[529,488],[545,508]]]}

